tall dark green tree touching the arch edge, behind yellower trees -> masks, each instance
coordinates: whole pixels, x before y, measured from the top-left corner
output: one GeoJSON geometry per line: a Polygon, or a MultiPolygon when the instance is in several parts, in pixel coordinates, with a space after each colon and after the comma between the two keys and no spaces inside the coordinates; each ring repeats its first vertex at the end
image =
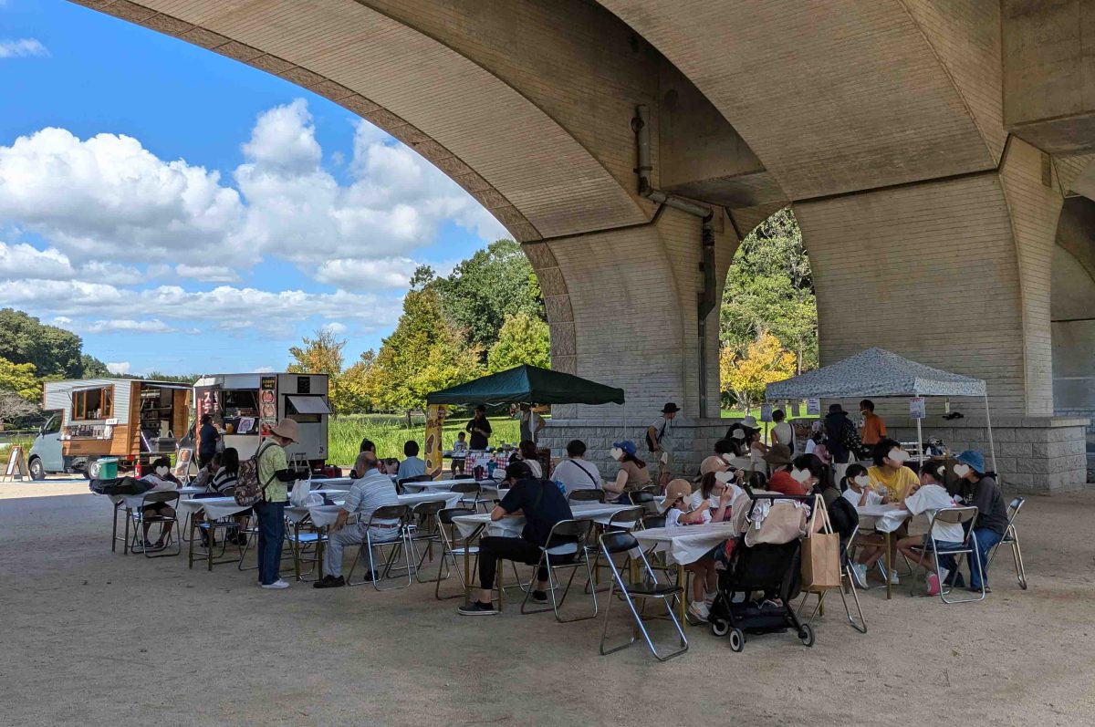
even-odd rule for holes
{"type": "Polygon", "coordinates": [[[487,350],[498,338],[507,315],[527,313],[541,321],[543,299],[532,265],[521,245],[496,240],[458,265],[448,277],[433,278],[419,268],[415,281],[435,287],[446,315],[465,331],[469,345],[487,350]]]}

